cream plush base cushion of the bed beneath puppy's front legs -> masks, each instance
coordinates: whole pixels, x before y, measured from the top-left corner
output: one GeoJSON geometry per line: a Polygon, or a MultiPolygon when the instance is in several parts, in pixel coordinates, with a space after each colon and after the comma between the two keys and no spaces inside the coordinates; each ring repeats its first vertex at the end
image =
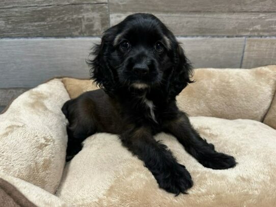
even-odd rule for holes
{"type": "Polygon", "coordinates": [[[276,130],[252,120],[191,117],[217,151],[233,155],[227,170],[203,167],[171,135],[162,140],[194,180],[187,195],[158,188],[142,161],[116,135],[95,134],[65,167],[57,195],[76,206],[276,206],[276,130]]]}

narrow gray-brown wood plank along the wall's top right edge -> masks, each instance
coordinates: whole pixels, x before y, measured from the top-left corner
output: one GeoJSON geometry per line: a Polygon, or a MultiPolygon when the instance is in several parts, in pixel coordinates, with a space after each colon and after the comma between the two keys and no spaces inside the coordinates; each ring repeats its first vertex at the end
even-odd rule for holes
{"type": "Polygon", "coordinates": [[[274,0],[112,0],[111,12],[276,12],[274,0]]]}

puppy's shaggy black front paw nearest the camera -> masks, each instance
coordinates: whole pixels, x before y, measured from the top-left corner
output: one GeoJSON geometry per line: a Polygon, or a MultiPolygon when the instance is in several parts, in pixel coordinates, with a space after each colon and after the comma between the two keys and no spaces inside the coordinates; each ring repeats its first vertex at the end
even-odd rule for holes
{"type": "Polygon", "coordinates": [[[155,176],[160,188],[176,194],[186,193],[191,188],[193,182],[190,173],[185,166],[176,163],[173,167],[165,169],[163,172],[155,176]]]}

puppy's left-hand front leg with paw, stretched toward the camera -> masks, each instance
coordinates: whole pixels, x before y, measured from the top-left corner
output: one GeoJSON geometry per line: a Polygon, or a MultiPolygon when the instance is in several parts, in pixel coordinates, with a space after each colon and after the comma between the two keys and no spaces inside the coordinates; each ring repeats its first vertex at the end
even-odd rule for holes
{"type": "Polygon", "coordinates": [[[176,161],[167,146],[155,141],[149,129],[131,129],[120,138],[129,151],[144,161],[160,188],[176,195],[191,188],[191,176],[185,166],[176,161]]]}

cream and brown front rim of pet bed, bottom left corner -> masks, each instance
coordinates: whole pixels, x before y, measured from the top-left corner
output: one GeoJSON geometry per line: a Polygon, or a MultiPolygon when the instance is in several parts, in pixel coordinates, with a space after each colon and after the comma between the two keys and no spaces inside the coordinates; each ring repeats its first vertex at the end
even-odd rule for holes
{"type": "MultiPolygon", "coordinates": [[[[16,191],[13,189],[11,192],[9,192],[10,195],[13,195],[13,198],[15,197],[16,194],[16,201],[20,202],[19,206],[26,206],[26,207],[31,207],[32,205],[27,204],[27,205],[22,205],[22,196],[24,196],[27,200],[35,204],[35,206],[39,207],[49,207],[49,206],[54,206],[54,207],[67,207],[67,206],[72,206],[69,203],[64,202],[57,196],[52,195],[51,193],[43,190],[42,188],[39,188],[38,186],[35,186],[31,183],[25,182],[21,179],[15,178],[13,176],[7,175],[3,172],[0,172],[0,178],[3,179],[6,183],[9,185],[12,185],[13,188],[16,188],[16,191]],[[20,200],[18,199],[18,194],[21,194],[20,200]]],[[[0,184],[1,185],[1,184],[0,184]]],[[[2,187],[4,187],[2,185],[2,187]]],[[[5,188],[7,190],[7,187],[5,188]]],[[[6,191],[7,192],[7,191],[6,191]]],[[[5,206],[3,205],[3,202],[1,202],[0,206],[5,206]]]]}

